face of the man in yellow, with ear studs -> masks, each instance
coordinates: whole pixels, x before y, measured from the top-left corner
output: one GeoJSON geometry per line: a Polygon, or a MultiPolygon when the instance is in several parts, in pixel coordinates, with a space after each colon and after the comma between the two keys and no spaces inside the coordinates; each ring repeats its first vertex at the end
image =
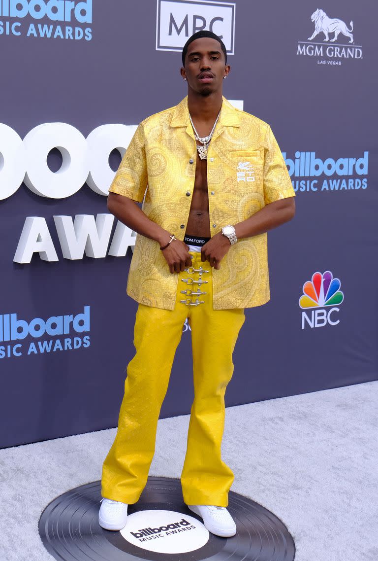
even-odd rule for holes
{"type": "Polygon", "coordinates": [[[181,76],[188,80],[189,88],[202,95],[222,91],[223,77],[230,66],[226,66],[225,55],[216,39],[203,37],[190,43],[181,76]]]}

